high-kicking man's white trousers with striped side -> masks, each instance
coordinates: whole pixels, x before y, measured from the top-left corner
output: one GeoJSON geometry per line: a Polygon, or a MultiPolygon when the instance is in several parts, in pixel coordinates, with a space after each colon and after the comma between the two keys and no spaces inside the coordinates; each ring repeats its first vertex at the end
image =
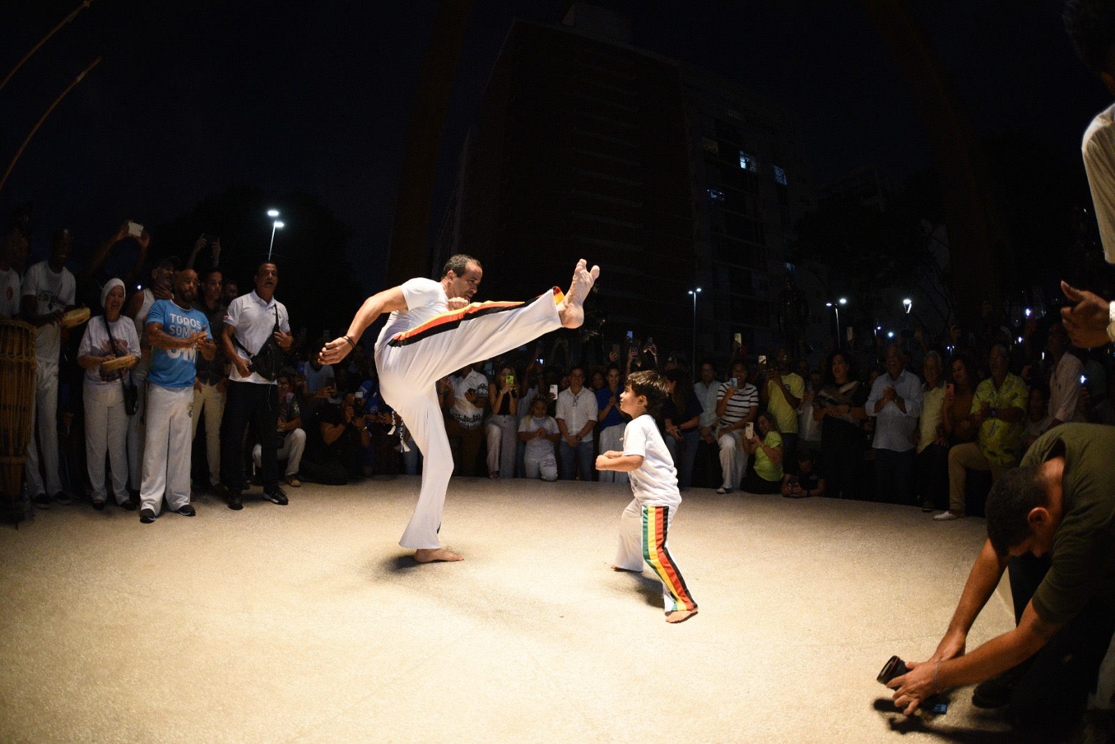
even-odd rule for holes
{"type": "MultiPolygon", "coordinates": [[[[497,303],[473,303],[468,310],[485,310],[497,303]]],[[[446,313],[453,317],[455,313],[446,313]]],[[[453,475],[453,454],[435,384],[465,365],[533,341],[561,328],[553,292],[487,315],[465,315],[455,328],[424,336],[410,344],[391,346],[389,338],[376,344],[376,368],[384,399],[403,416],[424,455],[421,491],[410,523],[399,544],[404,548],[440,548],[437,531],[445,509],[445,490],[453,475]]]]}

